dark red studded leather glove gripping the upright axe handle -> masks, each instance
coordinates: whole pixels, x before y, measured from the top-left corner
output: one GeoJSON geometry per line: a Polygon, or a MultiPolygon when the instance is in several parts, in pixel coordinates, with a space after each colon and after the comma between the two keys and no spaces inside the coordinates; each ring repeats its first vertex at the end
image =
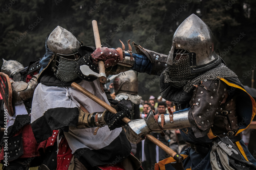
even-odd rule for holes
{"type": "Polygon", "coordinates": [[[115,66],[123,56],[121,48],[113,49],[108,47],[97,48],[92,54],[93,63],[98,65],[99,60],[103,60],[105,67],[115,66]]]}

